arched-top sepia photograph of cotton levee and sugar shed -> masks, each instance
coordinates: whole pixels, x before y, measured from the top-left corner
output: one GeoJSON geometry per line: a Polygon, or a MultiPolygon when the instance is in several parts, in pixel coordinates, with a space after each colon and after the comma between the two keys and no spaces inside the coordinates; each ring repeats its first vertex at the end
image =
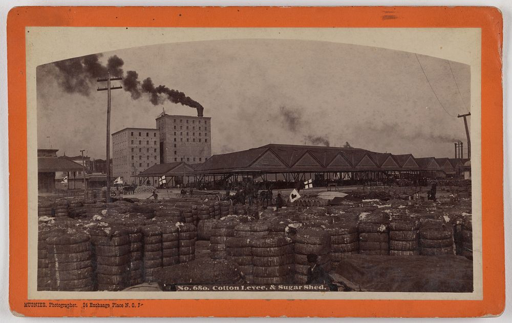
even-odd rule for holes
{"type": "Polygon", "coordinates": [[[467,59],[270,33],[37,65],[37,292],[481,290],[467,59]]]}

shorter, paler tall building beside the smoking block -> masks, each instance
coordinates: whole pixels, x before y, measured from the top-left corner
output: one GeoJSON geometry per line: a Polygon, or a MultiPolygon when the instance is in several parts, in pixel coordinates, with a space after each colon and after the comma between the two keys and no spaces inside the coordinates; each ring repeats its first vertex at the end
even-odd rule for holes
{"type": "MultiPolygon", "coordinates": [[[[160,132],[152,128],[124,128],[112,134],[112,177],[136,183],[134,175],[160,163],[160,132]]],[[[138,182],[136,184],[139,184],[138,182]]]]}

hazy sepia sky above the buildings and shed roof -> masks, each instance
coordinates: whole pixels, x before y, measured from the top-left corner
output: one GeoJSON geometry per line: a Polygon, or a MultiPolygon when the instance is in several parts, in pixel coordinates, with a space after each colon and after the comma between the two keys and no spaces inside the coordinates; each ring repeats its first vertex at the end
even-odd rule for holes
{"type": "MultiPolygon", "coordinates": [[[[136,71],[141,84],[151,77],[155,86],[181,91],[202,105],[212,118],[213,154],[269,143],[349,142],[377,152],[453,157],[455,140],[466,146],[456,116],[470,109],[468,65],[349,44],[233,39],[137,47],[100,53],[98,62],[90,56],[39,66],[39,148],[51,140],[59,155],[85,149],[104,158],[106,92],[96,91],[104,84],[95,82],[95,73],[114,55],[123,65],[111,59],[111,69],[123,76],[136,71]]],[[[150,94],[137,89],[112,91],[112,132],[154,128],[162,108],[197,114],[165,94],[154,105],[150,94]]]]}

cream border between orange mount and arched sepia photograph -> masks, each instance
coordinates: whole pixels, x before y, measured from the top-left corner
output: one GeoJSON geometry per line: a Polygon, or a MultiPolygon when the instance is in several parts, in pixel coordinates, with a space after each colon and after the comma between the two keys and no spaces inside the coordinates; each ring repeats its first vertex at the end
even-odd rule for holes
{"type": "Polygon", "coordinates": [[[36,67],[123,48],[232,38],[308,39],[420,53],[471,66],[473,293],[390,292],[40,292],[37,281],[37,181],[28,181],[28,299],[482,299],[481,30],[479,28],[106,28],[27,27],[28,178],[37,178],[36,67]],[[30,33],[28,32],[30,31],[30,33]],[[477,140],[476,140],[477,139],[477,140]]]}

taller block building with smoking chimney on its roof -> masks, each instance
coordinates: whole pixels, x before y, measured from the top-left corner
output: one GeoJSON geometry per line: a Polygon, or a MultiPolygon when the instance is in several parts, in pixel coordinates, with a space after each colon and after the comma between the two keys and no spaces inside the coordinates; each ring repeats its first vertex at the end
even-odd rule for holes
{"type": "Polygon", "coordinates": [[[211,118],[162,113],[156,118],[160,132],[160,163],[204,163],[211,156],[211,118]]]}

